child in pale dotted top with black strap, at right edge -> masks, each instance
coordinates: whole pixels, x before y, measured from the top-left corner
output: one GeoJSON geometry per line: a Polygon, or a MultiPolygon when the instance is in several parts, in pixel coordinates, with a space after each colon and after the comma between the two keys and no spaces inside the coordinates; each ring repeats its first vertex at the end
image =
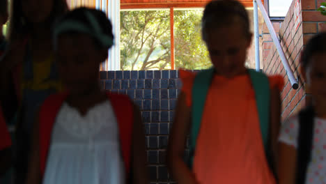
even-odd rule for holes
{"type": "Polygon", "coordinates": [[[302,75],[313,103],[284,123],[279,137],[279,183],[326,183],[326,33],[309,40],[302,75]]]}

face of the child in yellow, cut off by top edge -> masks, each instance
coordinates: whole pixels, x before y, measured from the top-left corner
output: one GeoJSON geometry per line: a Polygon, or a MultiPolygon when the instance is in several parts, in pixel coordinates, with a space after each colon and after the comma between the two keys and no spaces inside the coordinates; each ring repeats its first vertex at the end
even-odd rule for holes
{"type": "Polygon", "coordinates": [[[22,12],[31,23],[44,22],[52,12],[54,0],[21,0],[22,12]]]}

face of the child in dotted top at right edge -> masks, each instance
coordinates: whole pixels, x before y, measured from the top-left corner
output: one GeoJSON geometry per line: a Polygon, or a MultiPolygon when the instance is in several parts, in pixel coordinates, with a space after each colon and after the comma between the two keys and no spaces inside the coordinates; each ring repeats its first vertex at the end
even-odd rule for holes
{"type": "Polygon", "coordinates": [[[309,63],[306,68],[306,83],[315,102],[326,104],[326,54],[313,54],[309,63]]]}

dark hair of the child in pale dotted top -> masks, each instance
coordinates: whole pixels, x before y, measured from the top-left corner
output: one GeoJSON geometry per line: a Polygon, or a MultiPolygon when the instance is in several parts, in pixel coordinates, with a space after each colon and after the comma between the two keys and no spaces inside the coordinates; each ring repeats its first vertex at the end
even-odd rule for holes
{"type": "Polygon", "coordinates": [[[309,61],[313,54],[326,52],[326,33],[318,33],[309,40],[301,55],[301,64],[304,70],[309,66],[309,61]]]}

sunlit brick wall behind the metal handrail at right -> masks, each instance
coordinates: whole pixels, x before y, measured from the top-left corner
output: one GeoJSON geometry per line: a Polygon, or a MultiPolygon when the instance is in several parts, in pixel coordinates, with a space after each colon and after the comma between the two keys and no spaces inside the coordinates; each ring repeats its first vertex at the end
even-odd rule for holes
{"type": "Polygon", "coordinates": [[[323,0],[293,0],[283,22],[274,22],[281,46],[295,77],[299,80],[299,89],[291,88],[281,59],[267,27],[263,29],[263,70],[268,75],[281,74],[286,86],[281,91],[282,119],[297,113],[311,101],[309,91],[304,87],[304,79],[300,72],[300,53],[308,40],[318,32],[326,31],[326,16],[316,9],[323,0]],[[297,6],[295,6],[297,3],[297,6]],[[296,8],[297,7],[297,8],[296,8]]]}

